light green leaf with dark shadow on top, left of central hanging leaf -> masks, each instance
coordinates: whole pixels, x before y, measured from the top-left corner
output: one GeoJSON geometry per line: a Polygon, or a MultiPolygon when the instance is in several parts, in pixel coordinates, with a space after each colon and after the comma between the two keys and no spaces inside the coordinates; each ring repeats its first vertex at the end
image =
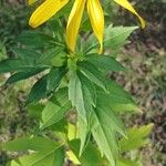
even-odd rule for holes
{"type": "Polygon", "coordinates": [[[71,102],[68,98],[66,89],[60,89],[50,102],[45,105],[42,112],[41,129],[44,129],[64,117],[71,108],[71,102]]]}

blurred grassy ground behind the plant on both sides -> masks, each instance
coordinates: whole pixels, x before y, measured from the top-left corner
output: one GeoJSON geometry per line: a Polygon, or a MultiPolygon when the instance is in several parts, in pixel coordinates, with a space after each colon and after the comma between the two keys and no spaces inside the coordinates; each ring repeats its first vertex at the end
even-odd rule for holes
{"type": "MultiPolygon", "coordinates": [[[[152,145],[142,149],[145,166],[166,166],[166,0],[131,0],[146,20],[145,30],[137,30],[118,56],[128,71],[113,74],[136,98],[142,115],[124,117],[127,125],[154,123],[152,145]]],[[[0,60],[12,56],[14,38],[28,27],[31,11],[23,0],[0,1],[0,60]]],[[[116,6],[115,25],[134,25],[135,17],[116,6]]],[[[35,122],[24,108],[30,81],[3,86],[7,75],[0,76],[0,142],[24,135],[35,122]]],[[[17,154],[0,151],[0,166],[17,154]]]]}

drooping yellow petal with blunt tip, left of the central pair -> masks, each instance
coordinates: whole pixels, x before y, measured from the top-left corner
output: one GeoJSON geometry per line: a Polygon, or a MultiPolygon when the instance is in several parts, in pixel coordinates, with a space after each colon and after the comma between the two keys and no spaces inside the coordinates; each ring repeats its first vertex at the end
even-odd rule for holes
{"type": "Polygon", "coordinates": [[[74,52],[75,49],[76,37],[79,33],[81,19],[85,8],[85,2],[86,0],[75,0],[68,20],[66,44],[72,52],[74,52]]]}

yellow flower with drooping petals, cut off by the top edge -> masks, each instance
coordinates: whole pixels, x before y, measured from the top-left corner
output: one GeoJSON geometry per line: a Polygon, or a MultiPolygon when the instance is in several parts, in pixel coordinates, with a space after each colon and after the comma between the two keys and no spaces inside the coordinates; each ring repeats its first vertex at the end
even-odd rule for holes
{"type": "MultiPolygon", "coordinates": [[[[34,1],[34,0],[29,0],[34,1]]],[[[37,28],[53,17],[60,11],[70,0],[45,0],[38,9],[32,13],[29,24],[32,28],[37,28]]],[[[134,14],[136,14],[145,27],[144,20],[134,10],[127,0],[114,0],[116,3],[126,8],[134,14]]],[[[32,3],[32,2],[31,2],[32,3]]],[[[76,37],[79,33],[83,11],[87,9],[90,22],[94,31],[95,37],[100,42],[100,53],[103,51],[103,35],[104,35],[104,13],[100,0],[74,0],[71,13],[69,15],[66,25],[66,44],[69,49],[74,52],[76,37]]]]}

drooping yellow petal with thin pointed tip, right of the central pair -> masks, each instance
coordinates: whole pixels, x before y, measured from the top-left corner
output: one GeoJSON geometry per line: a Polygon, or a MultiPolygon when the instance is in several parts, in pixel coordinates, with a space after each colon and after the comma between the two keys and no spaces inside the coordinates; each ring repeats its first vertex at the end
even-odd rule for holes
{"type": "Polygon", "coordinates": [[[103,33],[104,33],[104,13],[100,0],[87,0],[87,12],[90,21],[101,46],[100,53],[103,51],[103,33]]]}

